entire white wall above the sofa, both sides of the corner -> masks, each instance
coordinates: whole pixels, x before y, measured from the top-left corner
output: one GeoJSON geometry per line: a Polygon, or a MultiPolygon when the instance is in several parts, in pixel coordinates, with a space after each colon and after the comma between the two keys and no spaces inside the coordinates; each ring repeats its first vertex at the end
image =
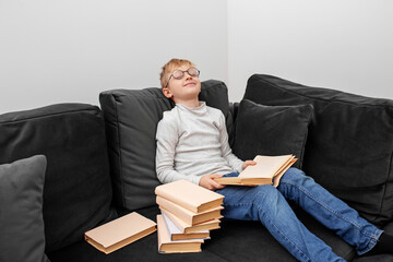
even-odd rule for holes
{"type": "Polygon", "coordinates": [[[253,73],[393,98],[393,1],[0,0],[0,114],[158,86],[172,57],[230,100],[253,73]]]}

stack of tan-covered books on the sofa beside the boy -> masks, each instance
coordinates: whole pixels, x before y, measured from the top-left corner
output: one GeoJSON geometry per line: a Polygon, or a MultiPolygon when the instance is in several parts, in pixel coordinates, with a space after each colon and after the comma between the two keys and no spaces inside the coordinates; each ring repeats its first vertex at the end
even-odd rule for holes
{"type": "Polygon", "coordinates": [[[219,228],[224,195],[186,180],[158,186],[158,252],[201,252],[210,230],[219,228]]]}

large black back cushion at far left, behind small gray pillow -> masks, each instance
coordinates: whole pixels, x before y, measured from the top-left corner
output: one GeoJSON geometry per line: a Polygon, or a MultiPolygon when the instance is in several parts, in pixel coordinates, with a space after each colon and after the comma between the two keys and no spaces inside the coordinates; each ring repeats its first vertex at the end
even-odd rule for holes
{"type": "Polygon", "coordinates": [[[43,154],[46,250],[112,218],[105,127],[98,107],[59,104],[0,116],[0,163],[43,154]]]}

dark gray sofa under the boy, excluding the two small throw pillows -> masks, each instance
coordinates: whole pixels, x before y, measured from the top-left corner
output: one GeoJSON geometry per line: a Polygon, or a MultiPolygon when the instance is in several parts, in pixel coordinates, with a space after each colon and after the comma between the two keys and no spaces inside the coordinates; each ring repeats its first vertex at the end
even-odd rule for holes
{"type": "MultiPolygon", "coordinates": [[[[214,80],[202,83],[200,98],[224,112],[234,145],[239,104],[230,104],[225,84],[214,80]]],[[[266,106],[312,105],[301,168],[393,233],[393,100],[262,74],[249,79],[245,99],[266,106]]],[[[84,241],[84,231],[131,211],[155,221],[155,130],[163,111],[174,106],[156,87],[107,91],[99,100],[100,108],[59,104],[0,116],[0,165],[37,154],[47,158],[43,214],[50,261],[295,261],[259,222],[224,219],[201,253],[159,254],[156,234],[108,255],[84,241]]],[[[334,233],[293,206],[344,259],[393,261],[390,254],[358,258],[334,233]]]]}

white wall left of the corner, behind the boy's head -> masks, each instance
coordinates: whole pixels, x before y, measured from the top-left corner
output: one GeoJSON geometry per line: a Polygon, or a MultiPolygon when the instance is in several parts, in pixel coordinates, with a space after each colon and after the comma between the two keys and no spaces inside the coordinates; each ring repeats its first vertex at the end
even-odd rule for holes
{"type": "Polygon", "coordinates": [[[1,0],[0,114],[159,86],[172,57],[228,81],[225,0],[1,0]]]}

